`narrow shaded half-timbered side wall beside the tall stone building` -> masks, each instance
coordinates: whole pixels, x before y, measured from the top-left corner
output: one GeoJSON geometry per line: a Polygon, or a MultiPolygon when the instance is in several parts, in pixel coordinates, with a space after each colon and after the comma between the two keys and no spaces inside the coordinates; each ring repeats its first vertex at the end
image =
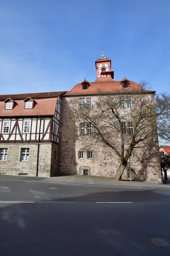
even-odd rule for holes
{"type": "Polygon", "coordinates": [[[57,98],[56,111],[52,121],[51,141],[59,143],[59,119],[60,119],[61,98],[57,98]]]}

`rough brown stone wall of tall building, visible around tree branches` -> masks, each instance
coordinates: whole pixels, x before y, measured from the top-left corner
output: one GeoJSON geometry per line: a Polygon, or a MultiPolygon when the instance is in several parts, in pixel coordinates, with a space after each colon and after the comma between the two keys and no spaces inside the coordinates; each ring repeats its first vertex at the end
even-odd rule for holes
{"type": "MultiPolygon", "coordinates": [[[[59,171],[68,175],[83,175],[85,169],[88,170],[88,175],[114,177],[120,160],[105,144],[96,143],[93,148],[89,148],[88,151],[94,152],[94,159],[88,159],[85,142],[80,139],[69,140],[65,135],[65,131],[71,125],[69,116],[74,114],[69,105],[71,98],[62,96],[61,100],[59,171]],[[78,158],[79,151],[85,151],[85,159],[78,158]]],[[[95,96],[92,96],[92,99],[94,98],[95,96]]],[[[118,134],[109,134],[109,136],[112,136],[112,140],[120,147],[118,134]]],[[[154,146],[158,151],[158,143],[154,146]]],[[[128,169],[129,163],[122,178],[129,179],[128,169]]],[[[135,180],[161,182],[159,157],[150,151],[135,148],[131,157],[131,172],[135,180]]]]}

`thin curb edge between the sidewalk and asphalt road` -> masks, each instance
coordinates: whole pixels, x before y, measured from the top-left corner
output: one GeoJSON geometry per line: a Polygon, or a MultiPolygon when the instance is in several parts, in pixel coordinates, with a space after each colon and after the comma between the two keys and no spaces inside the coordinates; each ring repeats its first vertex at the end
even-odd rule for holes
{"type": "Polygon", "coordinates": [[[22,180],[22,179],[11,179],[11,178],[1,178],[0,180],[17,180],[17,181],[32,181],[32,182],[42,182],[42,183],[54,183],[54,184],[69,184],[69,185],[83,185],[83,186],[106,186],[111,188],[130,188],[130,189],[170,189],[170,186],[166,187],[150,187],[150,186],[116,186],[116,185],[103,185],[103,184],[88,184],[88,183],[69,183],[69,182],[53,182],[53,181],[43,181],[43,180],[22,180]]]}

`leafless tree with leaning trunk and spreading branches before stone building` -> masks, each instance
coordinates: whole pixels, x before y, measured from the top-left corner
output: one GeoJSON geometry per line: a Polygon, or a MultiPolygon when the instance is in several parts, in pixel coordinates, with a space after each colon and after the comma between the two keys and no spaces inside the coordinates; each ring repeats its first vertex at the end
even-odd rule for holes
{"type": "Polygon", "coordinates": [[[153,94],[154,91],[143,88],[135,92],[125,89],[121,93],[110,94],[99,91],[92,105],[80,103],[77,97],[71,99],[72,125],[67,131],[69,137],[84,140],[87,147],[96,142],[107,145],[119,157],[114,179],[121,180],[133,148],[158,151],[156,119],[166,117],[170,96],[157,95],[155,109],[153,94]],[[115,137],[120,143],[115,141],[115,137]]]}

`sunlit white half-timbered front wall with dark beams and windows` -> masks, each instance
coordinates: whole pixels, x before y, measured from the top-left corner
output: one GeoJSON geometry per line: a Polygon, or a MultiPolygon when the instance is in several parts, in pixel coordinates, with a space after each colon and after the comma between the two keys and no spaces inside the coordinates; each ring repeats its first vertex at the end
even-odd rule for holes
{"type": "Polygon", "coordinates": [[[40,140],[50,140],[49,117],[40,118],[1,118],[0,119],[0,142],[13,141],[35,141],[37,142],[40,132],[40,140]],[[24,124],[30,121],[29,131],[24,131],[24,124]],[[8,129],[5,131],[4,125],[8,122],[8,129]]]}

